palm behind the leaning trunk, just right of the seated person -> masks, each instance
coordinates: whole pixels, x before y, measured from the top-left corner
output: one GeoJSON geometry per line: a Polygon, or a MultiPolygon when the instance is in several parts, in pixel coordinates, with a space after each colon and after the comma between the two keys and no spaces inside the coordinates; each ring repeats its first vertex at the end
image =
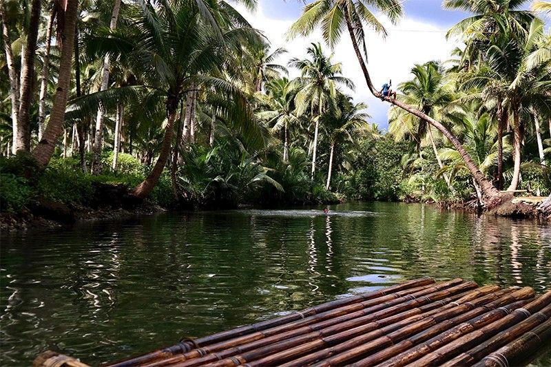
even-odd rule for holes
{"type": "MultiPolygon", "coordinates": [[[[446,109],[455,99],[453,87],[444,78],[444,72],[441,66],[435,61],[430,61],[424,65],[415,65],[411,70],[415,76],[413,80],[406,81],[398,86],[403,94],[399,96],[404,103],[415,106],[427,116],[440,118],[441,111],[446,109]]],[[[393,107],[391,111],[391,123],[388,132],[393,134],[396,139],[403,138],[406,134],[413,137],[417,145],[417,154],[421,153],[421,142],[428,136],[430,145],[433,147],[435,157],[440,169],[443,164],[438,156],[438,151],[433,136],[432,127],[422,118],[418,118],[404,109],[393,107]]],[[[450,179],[444,175],[448,187],[451,187],[450,179]]]]}

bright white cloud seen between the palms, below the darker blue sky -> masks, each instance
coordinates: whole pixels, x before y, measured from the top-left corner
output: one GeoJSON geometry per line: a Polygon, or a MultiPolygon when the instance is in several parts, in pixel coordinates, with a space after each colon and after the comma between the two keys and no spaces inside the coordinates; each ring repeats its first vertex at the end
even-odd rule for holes
{"type": "MultiPolygon", "coordinates": [[[[282,6],[285,6],[282,3],[282,6]]],[[[255,13],[251,13],[241,6],[236,6],[241,14],[253,25],[261,30],[271,42],[272,47],[284,47],[289,53],[280,57],[278,63],[283,65],[291,57],[306,57],[306,48],[312,42],[322,42],[320,30],[315,30],[310,36],[297,37],[287,41],[285,33],[291,27],[293,20],[277,19],[265,14],[262,5],[255,13]]],[[[425,63],[431,60],[446,60],[450,51],[457,46],[452,41],[446,41],[446,29],[430,23],[423,23],[414,19],[402,19],[399,25],[391,25],[388,19],[380,17],[380,21],[388,30],[386,39],[374,32],[368,32],[368,70],[375,83],[375,87],[382,85],[392,78],[393,86],[407,81],[412,76],[410,70],[415,63],[425,63]]],[[[329,52],[329,48],[326,48],[329,52]]],[[[380,127],[387,126],[388,103],[383,103],[373,97],[365,83],[364,75],[352,48],[347,33],[342,34],[340,43],[333,50],[333,61],[342,63],[344,76],[351,78],[356,85],[355,92],[351,92],[356,102],[366,102],[369,105],[369,114],[372,120],[380,127]]],[[[291,70],[291,77],[298,72],[291,70]]]]}

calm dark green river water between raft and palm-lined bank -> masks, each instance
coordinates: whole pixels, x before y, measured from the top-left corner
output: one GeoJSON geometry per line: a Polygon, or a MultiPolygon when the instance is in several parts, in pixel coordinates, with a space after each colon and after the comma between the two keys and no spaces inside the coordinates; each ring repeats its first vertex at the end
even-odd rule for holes
{"type": "Polygon", "coordinates": [[[424,275],[551,289],[551,227],[426,205],[170,213],[0,249],[2,366],[99,364],[424,275]]]}

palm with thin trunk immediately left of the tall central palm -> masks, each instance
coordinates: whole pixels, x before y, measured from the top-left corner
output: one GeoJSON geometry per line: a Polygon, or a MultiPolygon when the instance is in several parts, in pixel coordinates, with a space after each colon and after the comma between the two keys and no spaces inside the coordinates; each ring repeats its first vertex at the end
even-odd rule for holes
{"type": "Polygon", "coordinates": [[[289,127],[297,121],[295,115],[296,89],[288,78],[278,78],[266,85],[266,94],[257,94],[261,112],[258,117],[266,120],[272,132],[283,129],[283,161],[289,161],[289,127]]]}

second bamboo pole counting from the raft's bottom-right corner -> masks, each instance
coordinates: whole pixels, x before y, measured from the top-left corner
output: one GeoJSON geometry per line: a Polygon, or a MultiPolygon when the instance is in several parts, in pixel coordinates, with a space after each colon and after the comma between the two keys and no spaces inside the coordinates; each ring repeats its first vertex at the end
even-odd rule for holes
{"type": "Polygon", "coordinates": [[[458,355],[457,357],[455,357],[451,361],[446,362],[446,364],[443,364],[442,366],[471,366],[472,364],[477,363],[477,361],[482,359],[484,356],[488,355],[488,353],[512,342],[520,335],[527,333],[528,331],[532,330],[532,328],[535,328],[539,324],[548,320],[550,317],[551,305],[542,308],[541,311],[534,313],[523,322],[519,322],[519,324],[508,328],[506,331],[502,331],[494,337],[486,340],[486,342],[475,346],[475,348],[472,348],[471,350],[468,350],[468,352],[458,355]]]}

